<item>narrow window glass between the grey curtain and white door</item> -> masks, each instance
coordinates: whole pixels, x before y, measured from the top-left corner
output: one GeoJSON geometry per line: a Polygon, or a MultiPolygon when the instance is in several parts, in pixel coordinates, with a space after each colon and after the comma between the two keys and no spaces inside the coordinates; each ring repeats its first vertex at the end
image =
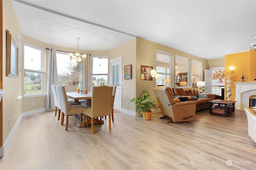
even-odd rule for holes
{"type": "Polygon", "coordinates": [[[91,57],[90,82],[92,86],[108,85],[108,56],[91,57]]]}

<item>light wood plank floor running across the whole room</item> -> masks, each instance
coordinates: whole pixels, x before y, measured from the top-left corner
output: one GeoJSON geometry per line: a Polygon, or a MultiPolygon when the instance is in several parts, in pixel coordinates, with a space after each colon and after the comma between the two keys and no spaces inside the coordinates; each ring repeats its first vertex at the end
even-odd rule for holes
{"type": "MultiPolygon", "coordinates": [[[[24,117],[1,159],[0,169],[255,169],[256,143],[248,136],[244,111],[229,117],[198,111],[191,122],[166,123],[115,113],[108,121],[68,131],[53,111],[24,117]],[[227,166],[227,160],[233,162],[227,166]]],[[[66,120],[66,118],[65,118],[66,120]]],[[[108,120],[108,118],[107,118],[108,120]]]]}

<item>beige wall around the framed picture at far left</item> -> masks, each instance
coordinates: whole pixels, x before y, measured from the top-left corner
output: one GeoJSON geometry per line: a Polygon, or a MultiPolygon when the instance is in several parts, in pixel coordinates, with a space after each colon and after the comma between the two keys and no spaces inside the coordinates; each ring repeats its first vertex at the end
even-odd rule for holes
{"type": "MultiPolygon", "coordinates": [[[[22,76],[18,76],[16,79],[6,77],[6,29],[10,31],[18,45],[18,34],[22,37],[22,32],[12,1],[3,1],[3,144],[22,113],[22,103],[17,100],[17,97],[22,95],[20,90],[22,76]],[[10,126],[8,119],[10,119],[10,126]]],[[[22,75],[20,71],[18,74],[22,75]]]]}

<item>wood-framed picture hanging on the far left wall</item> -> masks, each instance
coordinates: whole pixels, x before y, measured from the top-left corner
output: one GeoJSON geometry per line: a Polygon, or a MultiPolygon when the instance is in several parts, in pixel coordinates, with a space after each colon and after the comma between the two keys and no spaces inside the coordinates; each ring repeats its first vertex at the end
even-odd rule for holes
{"type": "Polygon", "coordinates": [[[6,30],[6,77],[18,77],[18,45],[6,30]]]}

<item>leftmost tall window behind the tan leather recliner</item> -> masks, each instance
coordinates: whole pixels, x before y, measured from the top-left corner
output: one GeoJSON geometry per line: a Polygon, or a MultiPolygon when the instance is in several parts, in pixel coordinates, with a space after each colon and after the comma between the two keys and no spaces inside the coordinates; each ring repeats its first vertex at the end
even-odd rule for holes
{"type": "Polygon", "coordinates": [[[156,80],[157,85],[170,86],[172,83],[171,77],[171,59],[172,55],[163,53],[160,51],[156,52],[156,72],[161,75],[161,79],[156,80]]]}

